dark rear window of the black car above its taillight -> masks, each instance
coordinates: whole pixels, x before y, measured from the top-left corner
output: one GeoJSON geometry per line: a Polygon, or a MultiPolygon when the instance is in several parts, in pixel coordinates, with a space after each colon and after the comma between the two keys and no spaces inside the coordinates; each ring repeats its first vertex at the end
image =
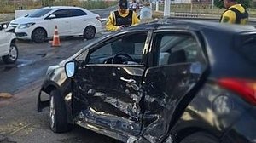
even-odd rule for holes
{"type": "Polygon", "coordinates": [[[256,63],[256,34],[243,35],[239,51],[247,60],[256,63]]]}

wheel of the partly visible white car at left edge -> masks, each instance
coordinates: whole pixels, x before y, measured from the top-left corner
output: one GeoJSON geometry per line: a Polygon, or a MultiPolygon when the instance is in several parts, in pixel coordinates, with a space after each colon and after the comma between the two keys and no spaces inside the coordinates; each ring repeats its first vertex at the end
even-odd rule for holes
{"type": "Polygon", "coordinates": [[[9,54],[2,57],[6,64],[13,64],[18,59],[19,51],[15,43],[11,43],[9,47],[9,54]]]}

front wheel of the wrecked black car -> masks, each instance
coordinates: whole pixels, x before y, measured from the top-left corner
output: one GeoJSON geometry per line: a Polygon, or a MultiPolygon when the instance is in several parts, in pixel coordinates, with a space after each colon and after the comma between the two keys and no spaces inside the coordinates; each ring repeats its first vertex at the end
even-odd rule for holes
{"type": "Polygon", "coordinates": [[[67,123],[67,110],[58,90],[50,93],[49,127],[55,133],[64,133],[72,129],[72,125],[67,123]]]}

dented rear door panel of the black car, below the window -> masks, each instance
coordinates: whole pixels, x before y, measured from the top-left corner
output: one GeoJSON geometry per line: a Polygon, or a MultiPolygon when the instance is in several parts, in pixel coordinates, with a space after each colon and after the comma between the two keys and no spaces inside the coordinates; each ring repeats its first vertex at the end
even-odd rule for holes
{"type": "MultiPolygon", "coordinates": [[[[198,65],[198,63],[196,63],[198,65]]],[[[142,138],[150,143],[165,140],[176,112],[183,109],[184,101],[201,77],[201,65],[163,66],[149,69],[145,77],[145,98],[142,138]],[[193,69],[193,70],[192,70],[193,69]],[[183,104],[179,103],[183,100],[183,104]]]]}

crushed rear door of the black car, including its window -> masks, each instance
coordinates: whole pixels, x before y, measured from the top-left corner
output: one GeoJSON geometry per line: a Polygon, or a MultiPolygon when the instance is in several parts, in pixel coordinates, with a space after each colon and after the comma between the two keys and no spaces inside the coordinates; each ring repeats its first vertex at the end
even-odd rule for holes
{"type": "Polygon", "coordinates": [[[189,92],[200,83],[207,60],[196,32],[155,31],[152,44],[153,64],[143,79],[145,112],[140,140],[161,142],[188,105],[189,92]]]}

